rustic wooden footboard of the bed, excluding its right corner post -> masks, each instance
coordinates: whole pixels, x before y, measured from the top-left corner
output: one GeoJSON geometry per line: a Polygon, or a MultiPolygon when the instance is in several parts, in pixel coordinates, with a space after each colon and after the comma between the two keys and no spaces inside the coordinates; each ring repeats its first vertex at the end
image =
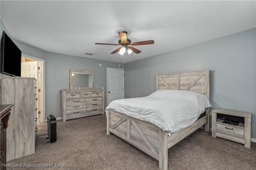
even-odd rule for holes
{"type": "Polygon", "coordinates": [[[106,110],[107,134],[116,136],[136,146],[159,160],[159,129],[154,124],[135,119],[117,111],[106,110]]]}

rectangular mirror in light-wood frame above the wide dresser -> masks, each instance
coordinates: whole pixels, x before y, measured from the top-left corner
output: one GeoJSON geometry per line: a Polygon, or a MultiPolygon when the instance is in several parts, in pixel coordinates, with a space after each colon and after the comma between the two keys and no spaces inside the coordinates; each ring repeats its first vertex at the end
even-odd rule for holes
{"type": "Polygon", "coordinates": [[[94,71],[70,69],[70,90],[94,89],[94,71]]]}

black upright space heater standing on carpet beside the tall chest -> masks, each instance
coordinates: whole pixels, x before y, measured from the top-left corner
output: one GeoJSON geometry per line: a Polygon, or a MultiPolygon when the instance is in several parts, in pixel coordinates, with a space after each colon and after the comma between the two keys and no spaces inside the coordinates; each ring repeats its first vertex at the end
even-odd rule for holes
{"type": "Polygon", "coordinates": [[[56,118],[54,117],[54,115],[48,115],[47,121],[48,121],[48,138],[49,138],[50,142],[52,143],[52,142],[55,142],[56,138],[57,138],[56,118]]]}

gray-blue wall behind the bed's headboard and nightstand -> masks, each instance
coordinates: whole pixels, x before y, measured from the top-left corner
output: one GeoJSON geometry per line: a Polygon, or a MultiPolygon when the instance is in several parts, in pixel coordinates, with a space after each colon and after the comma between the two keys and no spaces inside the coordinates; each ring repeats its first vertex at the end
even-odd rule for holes
{"type": "Polygon", "coordinates": [[[158,74],[210,69],[211,110],[251,112],[252,138],[256,138],[255,28],[126,63],[124,69],[125,98],[154,92],[158,74]]]}

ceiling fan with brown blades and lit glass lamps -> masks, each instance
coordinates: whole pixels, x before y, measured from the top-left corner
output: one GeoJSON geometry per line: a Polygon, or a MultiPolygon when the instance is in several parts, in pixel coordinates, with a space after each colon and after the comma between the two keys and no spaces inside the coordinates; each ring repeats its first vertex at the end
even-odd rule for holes
{"type": "Polygon", "coordinates": [[[134,53],[140,53],[141,51],[128,46],[128,45],[147,45],[147,44],[153,44],[154,40],[149,40],[149,41],[143,41],[143,42],[131,42],[130,39],[127,38],[127,32],[123,31],[123,32],[118,32],[118,35],[120,37],[120,40],[118,41],[118,44],[114,44],[114,43],[95,43],[97,45],[122,45],[122,47],[118,47],[115,51],[113,51],[111,54],[116,53],[117,51],[119,51],[118,53],[120,55],[124,55],[124,53],[126,53],[126,51],[128,52],[128,54],[132,53],[132,51],[134,53]]]}

